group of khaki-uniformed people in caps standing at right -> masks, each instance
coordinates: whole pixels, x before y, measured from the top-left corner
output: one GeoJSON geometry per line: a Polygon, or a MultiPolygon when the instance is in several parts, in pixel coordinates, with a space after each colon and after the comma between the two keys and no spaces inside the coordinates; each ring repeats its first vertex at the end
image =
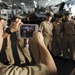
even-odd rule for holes
{"type": "Polygon", "coordinates": [[[71,13],[56,13],[52,22],[52,12],[48,12],[46,16],[39,28],[46,46],[55,56],[75,60],[75,21],[71,13]]]}

